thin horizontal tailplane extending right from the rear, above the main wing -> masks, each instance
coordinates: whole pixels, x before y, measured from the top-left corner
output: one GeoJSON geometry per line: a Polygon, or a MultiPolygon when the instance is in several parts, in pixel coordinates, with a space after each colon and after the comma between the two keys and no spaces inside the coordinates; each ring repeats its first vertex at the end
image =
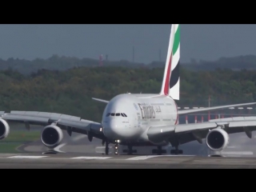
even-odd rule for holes
{"type": "Polygon", "coordinates": [[[225,108],[230,108],[230,107],[234,107],[234,106],[251,106],[251,105],[255,105],[255,104],[256,104],[256,102],[249,102],[249,103],[227,105],[227,106],[211,106],[211,107],[206,107],[206,108],[202,108],[202,109],[178,110],[178,114],[192,114],[192,113],[207,111],[207,110],[219,110],[219,109],[225,109],[225,108]]]}

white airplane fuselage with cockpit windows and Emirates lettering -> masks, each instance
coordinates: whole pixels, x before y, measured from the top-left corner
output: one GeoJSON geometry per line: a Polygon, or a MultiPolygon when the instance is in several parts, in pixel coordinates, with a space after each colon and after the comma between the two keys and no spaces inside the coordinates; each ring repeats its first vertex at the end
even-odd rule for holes
{"type": "Polygon", "coordinates": [[[102,114],[103,133],[109,141],[135,146],[152,146],[146,131],[150,126],[173,126],[178,108],[170,96],[158,94],[119,94],[102,114]]]}

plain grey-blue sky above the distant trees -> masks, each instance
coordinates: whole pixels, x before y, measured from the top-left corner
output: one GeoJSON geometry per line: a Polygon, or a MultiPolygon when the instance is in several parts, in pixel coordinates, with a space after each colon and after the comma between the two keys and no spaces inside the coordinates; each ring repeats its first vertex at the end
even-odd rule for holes
{"type": "MultiPolygon", "coordinates": [[[[108,54],[109,60],[132,61],[134,47],[134,62],[165,61],[170,26],[0,24],[0,58],[33,60],[58,54],[98,59],[108,54]]],[[[255,34],[255,24],[181,24],[181,62],[256,54],[255,34]]]]}

